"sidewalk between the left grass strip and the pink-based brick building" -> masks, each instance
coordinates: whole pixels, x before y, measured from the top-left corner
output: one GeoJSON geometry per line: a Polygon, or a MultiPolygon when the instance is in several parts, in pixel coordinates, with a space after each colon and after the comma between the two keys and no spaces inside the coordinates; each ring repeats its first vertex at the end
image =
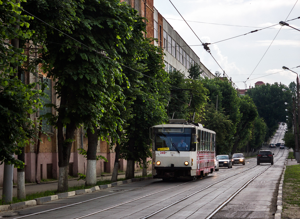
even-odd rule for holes
{"type": "MultiPolygon", "coordinates": [[[[147,171],[147,174],[151,173],[150,171],[147,171]]],[[[140,172],[135,172],[134,176],[142,176],[142,171],[140,172]]],[[[118,174],[118,179],[120,178],[125,178],[125,174],[118,174]]],[[[77,181],[78,178],[73,178],[69,179],[68,184],[69,187],[73,186],[80,186],[80,185],[85,185],[85,181],[80,179],[77,181]]],[[[110,180],[111,179],[111,174],[105,174],[105,176],[99,176],[97,177],[97,180],[110,180]]],[[[36,192],[44,192],[48,190],[57,190],[57,184],[58,181],[55,180],[54,182],[42,182],[41,184],[36,184],[36,183],[26,183],[25,184],[25,193],[27,194],[32,194],[36,192]]],[[[2,198],[2,188],[0,189],[0,194],[2,198]]],[[[13,197],[17,196],[17,188],[16,186],[13,187],[13,197]]]]}

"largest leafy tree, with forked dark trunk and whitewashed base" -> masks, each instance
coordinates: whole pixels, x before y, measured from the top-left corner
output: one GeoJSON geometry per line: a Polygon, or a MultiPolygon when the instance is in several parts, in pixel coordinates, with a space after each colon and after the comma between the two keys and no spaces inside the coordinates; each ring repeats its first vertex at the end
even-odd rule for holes
{"type": "MultiPolygon", "coordinates": [[[[138,22],[131,7],[112,1],[30,1],[29,11],[60,30],[68,31],[68,37],[35,23],[46,36],[44,71],[55,81],[60,105],[55,106],[58,115],[52,117],[57,127],[58,141],[58,191],[66,191],[67,167],[74,131],[80,124],[94,123],[105,113],[105,106],[114,107],[117,98],[124,98],[122,89],[122,57],[118,51],[127,51],[125,40],[132,37],[132,26],[138,22]],[[89,115],[97,115],[91,118],[89,115]],[[65,127],[65,137],[63,128],[65,127]]],[[[115,117],[116,122],[119,121],[115,117]]]]}

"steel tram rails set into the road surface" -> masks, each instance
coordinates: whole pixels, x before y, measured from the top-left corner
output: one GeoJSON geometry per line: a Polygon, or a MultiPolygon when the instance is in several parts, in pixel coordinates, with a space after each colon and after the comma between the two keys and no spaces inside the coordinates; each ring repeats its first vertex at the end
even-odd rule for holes
{"type": "MultiPolygon", "coordinates": [[[[281,155],[280,155],[279,158],[277,158],[276,161],[278,161],[278,159],[280,159],[280,158],[283,156],[284,150],[282,150],[282,153],[281,153],[281,150],[278,150],[276,156],[279,155],[279,153],[280,153],[281,155]]],[[[274,161],[274,163],[275,163],[276,161],[274,161]]],[[[255,162],[255,161],[254,161],[254,162],[255,162]]],[[[251,163],[254,163],[254,162],[251,162],[251,163]]],[[[249,163],[249,164],[251,164],[251,163],[249,163]]],[[[243,166],[240,166],[240,167],[243,167],[243,166]]],[[[162,211],[164,211],[165,209],[168,209],[168,208],[170,208],[171,206],[176,205],[177,203],[182,202],[183,200],[186,200],[186,199],[188,199],[189,197],[191,197],[191,196],[193,196],[193,195],[195,195],[195,194],[197,194],[197,193],[199,193],[199,192],[201,192],[201,191],[203,191],[203,190],[205,190],[205,189],[210,188],[210,187],[213,186],[213,185],[216,185],[216,184],[218,184],[218,183],[220,183],[220,182],[223,182],[223,181],[226,180],[226,179],[229,179],[230,177],[237,176],[238,174],[244,173],[244,172],[246,172],[246,171],[248,171],[248,170],[251,170],[251,169],[253,169],[253,168],[255,168],[255,167],[257,167],[257,165],[255,165],[255,166],[253,166],[253,167],[250,167],[250,168],[247,168],[246,170],[243,170],[243,171],[241,171],[241,172],[239,172],[239,173],[235,173],[235,174],[230,175],[230,176],[225,176],[225,178],[223,178],[223,179],[221,179],[221,180],[219,180],[219,181],[217,181],[217,182],[214,182],[214,183],[212,183],[212,184],[210,184],[210,185],[208,185],[208,186],[206,186],[206,187],[204,187],[204,188],[202,188],[202,189],[200,189],[200,190],[198,190],[198,191],[196,191],[196,192],[193,192],[193,193],[187,195],[186,197],[184,197],[184,198],[182,198],[182,199],[180,199],[180,200],[177,200],[177,201],[175,201],[174,203],[172,203],[172,204],[170,204],[170,205],[168,205],[168,206],[165,206],[164,208],[162,208],[162,209],[160,209],[160,210],[158,210],[158,211],[156,211],[156,212],[153,212],[152,214],[147,215],[146,217],[144,217],[144,219],[150,218],[150,217],[152,217],[153,215],[155,215],[155,214],[157,214],[157,213],[159,213],[159,212],[162,212],[162,211]]],[[[267,168],[265,168],[265,170],[261,171],[259,174],[257,174],[256,176],[254,176],[254,177],[253,177],[252,179],[250,179],[247,183],[245,183],[245,184],[244,184],[244,185],[243,185],[236,193],[234,193],[231,197],[229,197],[229,199],[226,200],[226,202],[224,202],[224,203],[223,203],[222,205],[220,205],[217,209],[215,209],[214,212],[217,212],[220,208],[222,208],[224,205],[226,205],[226,203],[228,203],[233,197],[235,197],[236,194],[238,194],[243,188],[245,188],[245,187],[246,187],[250,182],[252,182],[256,177],[258,177],[260,174],[262,174],[263,172],[265,172],[269,167],[271,167],[271,165],[269,165],[267,168]]],[[[239,167],[237,167],[237,168],[239,168],[239,167]]],[[[237,169],[237,168],[235,168],[235,169],[237,169]]],[[[230,170],[232,170],[232,169],[230,169],[230,170]]],[[[214,175],[217,175],[217,174],[221,174],[221,173],[224,173],[224,172],[227,172],[227,171],[230,171],[230,170],[225,170],[225,171],[222,171],[222,172],[219,172],[219,173],[211,174],[211,175],[209,175],[208,177],[211,177],[211,176],[214,176],[214,175]]],[[[206,178],[208,178],[208,177],[206,177],[206,178]]],[[[199,179],[198,179],[198,180],[199,180],[199,179]]],[[[198,181],[198,180],[196,180],[196,181],[198,181]]],[[[200,180],[201,180],[201,179],[200,179],[200,180]]],[[[211,181],[212,181],[212,180],[209,180],[209,181],[206,182],[206,183],[210,183],[211,181]]],[[[153,192],[153,193],[150,193],[150,194],[147,194],[147,195],[144,195],[144,196],[141,196],[141,197],[138,197],[138,198],[129,200],[129,201],[127,201],[127,202],[120,203],[120,204],[117,204],[117,205],[110,206],[110,207],[108,207],[108,208],[102,209],[102,210],[100,210],[100,211],[93,212],[93,213],[91,213],[91,214],[87,214],[87,215],[83,215],[83,216],[77,217],[77,218],[75,218],[75,219],[86,218],[86,217],[88,217],[88,216],[95,215],[95,214],[97,214],[97,213],[104,212],[104,211],[107,211],[107,210],[109,210],[109,209],[113,209],[113,208],[116,208],[116,207],[118,207],[118,206],[122,206],[122,205],[124,205],[124,204],[131,203],[131,202],[134,202],[134,201],[136,201],[136,200],[140,200],[140,199],[143,199],[143,198],[152,196],[152,195],[154,195],[154,194],[158,194],[158,193],[160,193],[160,192],[164,192],[164,191],[170,190],[170,189],[172,189],[172,188],[176,188],[176,187],[182,186],[182,185],[187,184],[187,183],[190,183],[190,182],[195,182],[195,181],[185,182],[185,183],[182,183],[182,184],[179,184],[179,185],[176,185],[176,186],[172,186],[172,187],[170,187],[170,188],[166,188],[166,189],[163,189],[163,190],[160,190],[160,191],[156,191],[156,192],[153,192]]],[[[148,186],[148,185],[147,185],[147,186],[148,186]]],[[[144,187],[147,187],[147,186],[144,186],[144,187]]],[[[199,185],[197,185],[197,186],[199,186],[199,185]]],[[[189,189],[189,191],[192,190],[192,189],[194,189],[194,188],[196,188],[197,186],[195,186],[195,187],[189,189]]],[[[133,190],[141,189],[141,188],[143,188],[143,187],[134,188],[134,189],[131,189],[131,190],[126,190],[126,191],[121,191],[121,192],[117,192],[117,193],[114,193],[114,194],[108,194],[108,195],[104,195],[104,196],[101,196],[101,197],[96,197],[96,198],[93,198],[93,199],[85,200],[85,201],[83,201],[83,202],[73,203],[73,204],[71,204],[71,205],[67,205],[67,206],[63,206],[63,207],[59,207],[59,208],[55,208],[55,209],[46,210],[46,211],[43,211],[43,212],[37,212],[37,213],[34,213],[34,214],[30,214],[30,215],[23,215],[23,216],[17,217],[17,218],[24,218],[24,217],[28,217],[28,216],[32,216],[32,215],[38,215],[38,214],[41,214],[41,213],[46,213],[46,212],[50,212],[50,211],[55,211],[55,210],[58,210],[58,209],[62,209],[62,208],[66,208],[66,207],[70,207],[70,206],[74,206],[74,205],[78,205],[78,204],[85,203],[85,202],[88,202],[88,201],[93,201],[93,200],[97,200],[97,199],[100,199],[100,198],[103,198],[103,197],[112,196],[112,195],[116,195],[116,194],[120,194],[120,193],[125,193],[125,192],[128,192],[128,191],[133,191],[133,190]]],[[[212,214],[212,213],[211,213],[211,214],[212,214]]],[[[215,214],[215,213],[214,213],[214,214],[215,214]]],[[[214,215],[214,214],[212,214],[212,215],[214,215]]],[[[212,215],[211,215],[211,216],[212,216],[212,215]]],[[[14,219],[17,219],[17,218],[14,218],[14,219]]]]}

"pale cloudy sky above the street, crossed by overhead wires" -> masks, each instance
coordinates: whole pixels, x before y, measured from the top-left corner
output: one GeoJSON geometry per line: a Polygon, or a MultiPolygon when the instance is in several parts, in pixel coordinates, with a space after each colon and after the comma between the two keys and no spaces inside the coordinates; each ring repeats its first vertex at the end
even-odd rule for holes
{"type": "Polygon", "coordinates": [[[211,73],[223,75],[224,70],[239,89],[254,87],[257,81],[286,86],[296,81],[296,74],[282,67],[300,73],[300,31],[279,22],[286,21],[300,30],[300,19],[295,19],[300,17],[300,0],[171,1],[202,43],[211,43],[208,46],[217,62],[203,46],[193,46],[202,43],[170,0],[154,0],[154,7],[211,73]],[[249,33],[255,30],[259,31],[249,33]]]}

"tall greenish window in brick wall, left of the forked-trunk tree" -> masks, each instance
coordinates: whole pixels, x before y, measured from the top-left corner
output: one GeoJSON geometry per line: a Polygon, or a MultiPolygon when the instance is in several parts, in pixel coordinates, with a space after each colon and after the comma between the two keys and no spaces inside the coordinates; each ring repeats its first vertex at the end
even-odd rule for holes
{"type": "MultiPolygon", "coordinates": [[[[52,103],[52,80],[49,78],[42,78],[42,77],[40,78],[40,80],[42,82],[46,81],[47,86],[49,88],[49,89],[45,88],[45,90],[44,90],[44,93],[46,93],[48,95],[49,99],[47,99],[44,96],[40,97],[40,99],[44,102],[43,105],[52,103]]],[[[46,113],[52,113],[52,107],[44,106],[44,108],[42,110],[40,110],[40,115],[45,115],[46,113]]],[[[45,120],[45,119],[42,121],[42,129],[43,129],[43,131],[45,131],[47,133],[52,133],[52,126],[47,125],[47,120],[45,120]]]]}

